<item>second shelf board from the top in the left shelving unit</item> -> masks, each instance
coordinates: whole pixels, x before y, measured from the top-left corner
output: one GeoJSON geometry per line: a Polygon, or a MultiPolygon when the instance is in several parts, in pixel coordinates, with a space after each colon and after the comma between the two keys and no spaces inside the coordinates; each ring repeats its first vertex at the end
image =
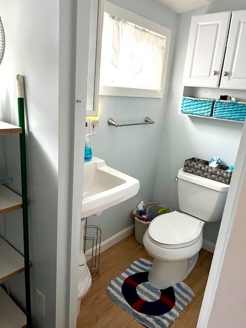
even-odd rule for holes
{"type": "Polygon", "coordinates": [[[22,208],[22,197],[7,187],[0,185],[0,214],[22,208]]]}

